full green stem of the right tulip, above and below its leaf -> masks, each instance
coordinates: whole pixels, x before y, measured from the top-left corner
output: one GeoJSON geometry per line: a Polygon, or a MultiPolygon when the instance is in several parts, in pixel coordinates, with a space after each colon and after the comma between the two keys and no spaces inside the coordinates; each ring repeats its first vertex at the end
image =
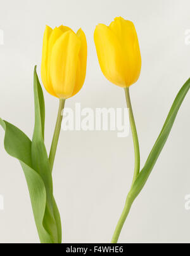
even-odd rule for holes
{"type": "MultiPolygon", "coordinates": [[[[131,131],[132,131],[132,138],[133,138],[133,143],[134,143],[135,163],[134,163],[134,177],[132,180],[132,184],[134,184],[134,182],[137,179],[137,176],[139,174],[139,170],[140,170],[140,152],[139,152],[139,140],[137,137],[136,123],[134,120],[134,115],[132,112],[132,105],[130,102],[129,88],[125,88],[125,97],[126,97],[127,107],[129,109],[130,127],[131,127],[131,131]]],[[[125,220],[127,219],[127,216],[129,214],[129,211],[130,211],[133,201],[134,201],[134,199],[132,199],[130,194],[128,194],[126,202],[125,202],[124,210],[122,212],[120,219],[118,220],[118,224],[117,224],[117,227],[113,234],[111,243],[117,243],[120,233],[122,231],[122,228],[124,226],[125,220]]]]}

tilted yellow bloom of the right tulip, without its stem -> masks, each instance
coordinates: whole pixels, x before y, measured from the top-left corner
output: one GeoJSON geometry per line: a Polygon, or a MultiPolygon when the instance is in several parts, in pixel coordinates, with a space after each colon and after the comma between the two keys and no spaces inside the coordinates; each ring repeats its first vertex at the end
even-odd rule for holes
{"type": "Polygon", "coordinates": [[[141,72],[141,52],[134,24],[117,17],[94,31],[99,65],[105,77],[121,87],[136,83],[141,72]]]}

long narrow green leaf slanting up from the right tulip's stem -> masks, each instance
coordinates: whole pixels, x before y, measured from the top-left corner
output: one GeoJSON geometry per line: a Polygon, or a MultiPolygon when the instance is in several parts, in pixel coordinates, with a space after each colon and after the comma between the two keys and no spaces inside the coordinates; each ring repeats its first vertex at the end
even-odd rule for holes
{"type": "Polygon", "coordinates": [[[163,125],[162,131],[160,132],[160,135],[158,136],[143,169],[137,176],[136,181],[134,182],[130,189],[129,198],[132,199],[132,201],[134,201],[139,192],[141,192],[141,190],[143,189],[144,184],[146,184],[146,180],[148,179],[151,171],[153,170],[153,166],[155,166],[156,160],[158,159],[158,156],[160,155],[160,152],[162,151],[163,146],[167,141],[168,135],[170,134],[172,126],[174,125],[177,112],[179,111],[179,108],[181,107],[181,104],[184,98],[186,97],[189,88],[190,78],[187,80],[184,86],[182,86],[181,90],[177,94],[177,97],[175,98],[174,103],[172,104],[172,107],[170,109],[170,112],[168,113],[167,119],[163,125]]]}

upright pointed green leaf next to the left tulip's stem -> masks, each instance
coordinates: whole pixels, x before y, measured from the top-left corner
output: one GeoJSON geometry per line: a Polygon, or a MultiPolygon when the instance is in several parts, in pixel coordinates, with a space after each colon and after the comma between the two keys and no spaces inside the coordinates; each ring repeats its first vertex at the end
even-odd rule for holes
{"type": "Polygon", "coordinates": [[[32,138],[32,166],[41,176],[46,187],[46,211],[44,214],[44,227],[49,232],[54,243],[61,242],[61,220],[58,208],[53,198],[53,180],[51,168],[44,144],[44,96],[41,84],[37,77],[36,67],[34,69],[34,105],[35,126],[32,138]]]}

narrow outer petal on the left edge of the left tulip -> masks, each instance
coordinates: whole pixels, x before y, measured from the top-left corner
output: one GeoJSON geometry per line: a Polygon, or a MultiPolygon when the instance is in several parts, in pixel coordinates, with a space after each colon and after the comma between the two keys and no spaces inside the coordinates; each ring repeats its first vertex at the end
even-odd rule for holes
{"type": "Polygon", "coordinates": [[[42,46],[41,78],[42,78],[42,83],[44,84],[44,87],[46,88],[46,90],[51,95],[54,95],[53,91],[51,91],[51,88],[49,88],[49,83],[47,81],[48,42],[49,42],[49,37],[51,36],[52,31],[53,29],[51,29],[51,27],[48,27],[46,25],[46,29],[43,37],[43,46],[42,46]]]}

